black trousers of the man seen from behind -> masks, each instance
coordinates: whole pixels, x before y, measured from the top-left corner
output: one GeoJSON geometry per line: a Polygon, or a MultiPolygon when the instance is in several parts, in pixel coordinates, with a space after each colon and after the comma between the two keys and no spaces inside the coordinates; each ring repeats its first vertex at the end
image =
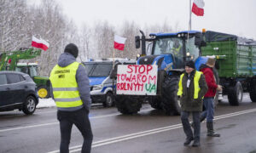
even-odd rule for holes
{"type": "Polygon", "coordinates": [[[79,131],[84,137],[84,143],[82,147],[82,153],[90,153],[91,143],[93,135],[90,127],[90,120],[88,116],[88,111],[84,108],[79,111],[57,111],[57,118],[60,122],[61,127],[61,153],[68,153],[71,130],[73,124],[79,128],[79,131]]]}

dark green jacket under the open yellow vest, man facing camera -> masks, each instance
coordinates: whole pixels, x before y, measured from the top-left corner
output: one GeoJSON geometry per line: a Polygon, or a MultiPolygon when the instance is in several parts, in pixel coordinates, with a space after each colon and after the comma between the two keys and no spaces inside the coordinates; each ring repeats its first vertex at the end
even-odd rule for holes
{"type": "Polygon", "coordinates": [[[202,111],[203,96],[207,94],[207,90],[208,90],[207,82],[204,75],[201,74],[201,77],[198,82],[201,90],[198,93],[198,99],[194,99],[194,91],[195,91],[194,76],[195,76],[195,71],[192,71],[190,75],[191,81],[189,84],[189,88],[187,88],[188,74],[184,73],[184,76],[182,79],[183,94],[180,98],[182,111],[202,111]]]}

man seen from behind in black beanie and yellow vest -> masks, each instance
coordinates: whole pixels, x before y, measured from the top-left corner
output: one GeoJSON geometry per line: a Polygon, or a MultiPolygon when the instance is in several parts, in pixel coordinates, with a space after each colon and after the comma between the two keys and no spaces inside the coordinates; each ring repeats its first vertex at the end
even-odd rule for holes
{"type": "Polygon", "coordinates": [[[61,153],[69,152],[73,124],[79,128],[84,137],[83,153],[90,153],[93,139],[88,116],[91,104],[89,78],[84,65],[76,61],[78,55],[78,47],[73,43],[68,44],[49,77],[53,99],[58,109],[61,153]]]}

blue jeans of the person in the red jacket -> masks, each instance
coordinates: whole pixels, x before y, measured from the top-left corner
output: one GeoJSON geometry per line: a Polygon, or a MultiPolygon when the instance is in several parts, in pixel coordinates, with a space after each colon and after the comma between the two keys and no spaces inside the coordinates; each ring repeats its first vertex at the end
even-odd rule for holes
{"type": "Polygon", "coordinates": [[[214,118],[214,100],[213,100],[213,98],[205,98],[204,106],[205,106],[206,110],[201,113],[201,119],[207,118],[207,122],[213,122],[213,118],[214,118]]]}

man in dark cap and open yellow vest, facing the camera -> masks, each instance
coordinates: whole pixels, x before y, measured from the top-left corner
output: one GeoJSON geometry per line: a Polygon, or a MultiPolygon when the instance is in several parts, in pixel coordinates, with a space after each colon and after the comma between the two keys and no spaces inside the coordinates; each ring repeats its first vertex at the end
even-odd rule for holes
{"type": "Polygon", "coordinates": [[[192,146],[200,146],[200,113],[202,111],[202,99],[207,93],[207,82],[201,71],[195,70],[195,62],[189,60],[185,65],[185,72],[180,76],[177,96],[181,103],[181,121],[187,138],[184,145],[187,146],[194,140],[192,146]],[[195,122],[194,134],[189,124],[189,113],[193,115],[195,122]]]}

